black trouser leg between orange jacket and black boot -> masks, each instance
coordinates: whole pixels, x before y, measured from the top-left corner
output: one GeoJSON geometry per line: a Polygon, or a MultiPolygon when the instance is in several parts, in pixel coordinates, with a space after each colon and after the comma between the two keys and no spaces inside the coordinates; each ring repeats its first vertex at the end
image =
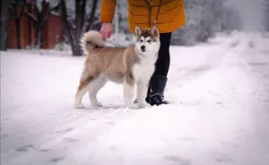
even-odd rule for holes
{"type": "Polygon", "coordinates": [[[161,75],[167,76],[169,72],[170,65],[170,53],[169,53],[169,45],[172,33],[161,33],[161,47],[158,55],[158,60],[155,63],[155,71],[153,76],[161,75]]]}

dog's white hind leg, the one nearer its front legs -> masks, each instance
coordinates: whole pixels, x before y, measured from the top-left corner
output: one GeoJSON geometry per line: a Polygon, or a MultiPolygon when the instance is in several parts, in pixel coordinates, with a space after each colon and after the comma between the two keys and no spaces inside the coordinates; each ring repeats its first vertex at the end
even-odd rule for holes
{"type": "Polygon", "coordinates": [[[89,98],[91,101],[91,106],[102,106],[101,103],[97,100],[97,93],[100,88],[104,87],[107,82],[107,79],[104,76],[99,76],[94,79],[89,86],[89,98]]]}

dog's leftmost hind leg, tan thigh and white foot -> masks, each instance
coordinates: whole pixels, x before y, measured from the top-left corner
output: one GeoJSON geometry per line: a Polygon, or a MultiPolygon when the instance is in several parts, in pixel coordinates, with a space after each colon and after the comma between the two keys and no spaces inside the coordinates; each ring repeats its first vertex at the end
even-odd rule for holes
{"type": "Polygon", "coordinates": [[[82,78],[80,79],[80,84],[75,94],[74,108],[83,108],[82,97],[86,94],[87,91],[89,91],[92,81],[94,81],[96,78],[99,78],[97,69],[88,64],[82,73],[82,78]]]}

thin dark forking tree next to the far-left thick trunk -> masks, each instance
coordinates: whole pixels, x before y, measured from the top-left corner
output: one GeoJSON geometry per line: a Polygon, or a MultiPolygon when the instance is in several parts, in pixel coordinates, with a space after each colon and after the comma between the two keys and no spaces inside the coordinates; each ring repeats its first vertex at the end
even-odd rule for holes
{"type": "Polygon", "coordinates": [[[11,6],[8,8],[13,21],[15,23],[16,29],[16,41],[18,49],[21,49],[21,34],[20,34],[20,24],[22,20],[22,15],[25,12],[26,0],[11,0],[11,6]],[[21,7],[21,11],[18,11],[18,7],[21,7]]]}

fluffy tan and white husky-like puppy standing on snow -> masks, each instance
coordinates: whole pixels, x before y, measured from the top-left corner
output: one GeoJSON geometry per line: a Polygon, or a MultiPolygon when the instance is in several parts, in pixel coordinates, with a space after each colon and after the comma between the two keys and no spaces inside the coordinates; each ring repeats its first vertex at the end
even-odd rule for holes
{"type": "Polygon", "coordinates": [[[137,87],[137,108],[150,106],[145,102],[150,78],[160,49],[160,32],[135,27],[136,42],[127,47],[114,47],[103,40],[99,31],[90,30],[82,36],[82,49],[87,55],[74,99],[76,109],[83,108],[82,97],[89,92],[91,106],[102,106],[97,93],[108,80],[124,86],[124,101],[134,107],[134,86],[137,87]]]}

